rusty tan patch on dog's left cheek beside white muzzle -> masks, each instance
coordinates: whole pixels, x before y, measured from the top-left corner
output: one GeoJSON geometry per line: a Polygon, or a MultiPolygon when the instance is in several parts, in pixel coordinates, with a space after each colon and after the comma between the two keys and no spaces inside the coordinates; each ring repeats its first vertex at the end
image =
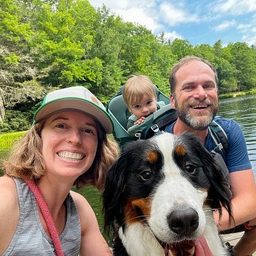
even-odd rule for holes
{"type": "Polygon", "coordinates": [[[143,220],[141,213],[145,216],[150,215],[151,200],[150,198],[130,198],[125,205],[125,221],[131,225],[132,223],[143,220]],[[141,212],[138,212],[138,208],[141,212]]]}

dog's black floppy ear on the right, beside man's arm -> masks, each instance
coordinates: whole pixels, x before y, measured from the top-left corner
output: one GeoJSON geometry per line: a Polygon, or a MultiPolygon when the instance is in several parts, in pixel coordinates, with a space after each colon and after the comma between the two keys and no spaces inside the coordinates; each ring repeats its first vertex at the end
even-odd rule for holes
{"type": "MultiPolygon", "coordinates": [[[[211,183],[209,189],[209,203],[212,208],[218,209],[221,217],[221,205],[228,211],[229,216],[232,216],[231,198],[232,194],[229,188],[229,179],[225,175],[225,170],[218,164],[214,157],[205,149],[205,157],[202,161],[205,166],[205,175],[211,183]]],[[[220,156],[221,157],[221,156],[220,156]]],[[[222,160],[222,159],[221,159],[222,160]]],[[[225,164],[225,163],[223,163],[225,164]]]]}

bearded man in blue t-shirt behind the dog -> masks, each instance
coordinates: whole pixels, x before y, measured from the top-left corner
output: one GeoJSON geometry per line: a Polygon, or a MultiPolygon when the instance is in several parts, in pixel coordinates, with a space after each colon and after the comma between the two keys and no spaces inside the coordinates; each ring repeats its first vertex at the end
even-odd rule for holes
{"type": "Polygon", "coordinates": [[[218,77],[208,61],[187,56],[179,61],[170,74],[171,104],[179,115],[166,132],[181,134],[193,132],[211,151],[216,147],[208,132],[214,119],[227,134],[228,151],[222,155],[227,165],[232,191],[234,221],[229,224],[228,214],[223,209],[221,220],[214,218],[220,231],[244,225],[244,235],[234,246],[237,256],[252,255],[256,251],[256,186],[243,132],[239,125],[227,118],[216,117],[218,112],[218,77]],[[255,226],[255,227],[253,227],[255,226]],[[245,228],[246,227],[246,228],[245,228]]]}

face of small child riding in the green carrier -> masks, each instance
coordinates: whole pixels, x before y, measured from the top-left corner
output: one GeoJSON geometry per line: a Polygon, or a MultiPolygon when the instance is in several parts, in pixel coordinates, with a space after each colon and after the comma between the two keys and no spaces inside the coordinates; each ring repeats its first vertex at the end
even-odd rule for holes
{"type": "Polygon", "coordinates": [[[141,116],[148,116],[151,113],[156,112],[156,98],[148,97],[148,95],[143,95],[143,98],[138,102],[133,102],[131,104],[129,111],[133,113],[137,118],[141,118],[141,116]]]}

